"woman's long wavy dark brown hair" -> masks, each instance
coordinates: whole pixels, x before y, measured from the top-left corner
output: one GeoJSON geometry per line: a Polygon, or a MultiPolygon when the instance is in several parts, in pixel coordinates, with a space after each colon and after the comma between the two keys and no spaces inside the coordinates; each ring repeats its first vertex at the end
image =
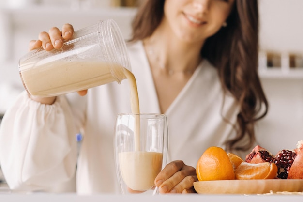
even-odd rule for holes
{"type": "MultiPolygon", "coordinates": [[[[144,0],[141,3],[132,24],[131,41],[152,35],[163,18],[164,2],[144,0]]],[[[227,27],[209,37],[201,50],[202,57],[217,68],[225,93],[231,93],[239,102],[240,112],[234,126],[237,136],[227,140],[227,150],[252,147],[254,124],[268,111],[268,101],[258,77],[258,23],[258,0],[235,0],[227,27]],[[245,135],[250,141],[239,145],[245,135]]]]}

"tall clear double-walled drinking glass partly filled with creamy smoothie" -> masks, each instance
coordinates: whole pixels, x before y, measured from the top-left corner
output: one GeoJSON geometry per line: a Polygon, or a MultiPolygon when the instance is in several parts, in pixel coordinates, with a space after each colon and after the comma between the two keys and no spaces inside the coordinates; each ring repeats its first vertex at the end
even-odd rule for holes
{"type": "Polygon", "coordinates": [[[117,116],[114,148],[122,194],[158,193],[154,180],[166,165],[167,147],[166,115],[128,113],[117,116]]]}

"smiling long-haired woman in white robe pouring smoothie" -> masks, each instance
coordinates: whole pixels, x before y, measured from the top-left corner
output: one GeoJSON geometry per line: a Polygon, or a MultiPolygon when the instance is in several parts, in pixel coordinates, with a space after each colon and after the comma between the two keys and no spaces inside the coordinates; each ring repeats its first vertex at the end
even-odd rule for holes
{"type": "MultiPolygon", "coordinates": [[[[69,24],[41,32],[30,49],[60,48],[71,33],[69,24]]],[[[210,146],[251,150],[268,108],[257,72],[257,0],[146,0],[127,46],[140,111],[168,119],[170,163],[155,179],[161,193],[193,192],[197,160],[210,146]]],[[[119,189],[112,134],[115,116],[130,112],[128,84],[88,91],[39,99],[24,92],[7,110],[0,163],[11,188],[72,190],[76,172],[78,193],[119,189]]]]}

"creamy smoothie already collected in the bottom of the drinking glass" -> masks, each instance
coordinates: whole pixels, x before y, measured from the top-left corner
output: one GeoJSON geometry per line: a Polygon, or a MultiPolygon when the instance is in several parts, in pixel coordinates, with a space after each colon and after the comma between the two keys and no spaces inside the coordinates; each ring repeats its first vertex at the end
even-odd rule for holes
{"type": "Polygon", "coordinates": [[[154,180],[162,168],[162,153],[121,152],[119,162],[125,184],[133,189],[145,191],[154,186],[154,180]]]}

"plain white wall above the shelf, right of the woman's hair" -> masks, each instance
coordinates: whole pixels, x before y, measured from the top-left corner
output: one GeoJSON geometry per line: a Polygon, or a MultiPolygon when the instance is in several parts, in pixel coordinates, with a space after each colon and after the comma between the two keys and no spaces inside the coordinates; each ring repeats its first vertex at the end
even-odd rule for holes
{"type": "Polygon", "coordinates": [[[303,53],[303,0],[259,0],[260,47],[303,53]]]}

